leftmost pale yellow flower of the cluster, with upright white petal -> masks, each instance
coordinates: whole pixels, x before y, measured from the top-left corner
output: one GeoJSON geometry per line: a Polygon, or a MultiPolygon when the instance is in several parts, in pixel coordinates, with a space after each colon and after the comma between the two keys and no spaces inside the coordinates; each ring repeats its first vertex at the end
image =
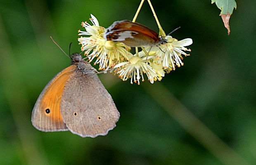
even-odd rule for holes
{"type": "Polygon", "coordinates": [[[82,22],[82,26],[86,31],[78,30],[78,35],[89,35],[90,37],[78,38],[79,44],[81,44],[81,51],[90,59],[89,62],[96,57],[94,64],[99,64],[99,70],[109,69],[123,62],[129,55],[130,47],[124,45],[121,42],[105,41],[103,33],[105,28],[99,25],[99,22],[95,16],[91,14],[90,25],[87,21],[82,22]]]}

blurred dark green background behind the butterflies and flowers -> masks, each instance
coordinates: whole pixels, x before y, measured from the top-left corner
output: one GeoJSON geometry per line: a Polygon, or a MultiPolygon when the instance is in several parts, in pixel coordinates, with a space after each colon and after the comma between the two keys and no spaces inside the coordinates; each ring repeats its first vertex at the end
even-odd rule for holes
{"type": "MultiPolygon", "coordinates": [[[[90,14],[108,27],[131,20],[139,3],[0,1],[1,165],[256,164],[254,0],[237,2],[230,36],[210,0],[152,0],[166,33],[181,26],[172,36],[193,39],[185,65],[153,85],[130,85],[111,73],[99,75],[121,113],[106,136],[45,133],[32,126],[31,112],[43,87],[70,64],[50,36],[67,53],[70,42],[71,53],[79,52],[77,30],[83,30],[81,22],[90,14]]],[[[158,31],[147,1],[137,22],[158,31]]]]}

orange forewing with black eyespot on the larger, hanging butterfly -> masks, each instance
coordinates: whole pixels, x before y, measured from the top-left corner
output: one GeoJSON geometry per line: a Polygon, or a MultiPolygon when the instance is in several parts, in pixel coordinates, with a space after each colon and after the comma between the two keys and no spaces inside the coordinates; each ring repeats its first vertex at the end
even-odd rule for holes
{"type": "Polygon", "coordinates": [[[60,101],[66,80],[76,72],[76,66],[71,65],[59,72],[45,86],[32,111],[31,121],[40,131],[67,131],[60,114],[60,101]]]}

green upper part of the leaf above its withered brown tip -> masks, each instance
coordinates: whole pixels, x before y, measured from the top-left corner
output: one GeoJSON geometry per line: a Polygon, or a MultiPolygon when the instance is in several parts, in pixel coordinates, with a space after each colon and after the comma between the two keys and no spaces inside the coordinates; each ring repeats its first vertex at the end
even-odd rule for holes
{"type": "Polygon", "coordinates": [[[217,7],[221,10],[220,14],[233,13],[234,8],[237,9],[235,0],[211,0],[211,4],[216,3],[217,7]]]}

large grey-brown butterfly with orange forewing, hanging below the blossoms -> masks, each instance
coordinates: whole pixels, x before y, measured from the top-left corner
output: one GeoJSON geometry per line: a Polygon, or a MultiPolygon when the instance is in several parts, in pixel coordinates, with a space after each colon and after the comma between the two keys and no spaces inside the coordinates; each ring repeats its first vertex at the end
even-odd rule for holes
{"type": "Polygon", "coordinates": [[[95,69],[78,53],[72,64],[45,86],[31,121],[45,132],[71,131],[82,137],[106,135],[116,126],[119,112],[95,69]]]}

